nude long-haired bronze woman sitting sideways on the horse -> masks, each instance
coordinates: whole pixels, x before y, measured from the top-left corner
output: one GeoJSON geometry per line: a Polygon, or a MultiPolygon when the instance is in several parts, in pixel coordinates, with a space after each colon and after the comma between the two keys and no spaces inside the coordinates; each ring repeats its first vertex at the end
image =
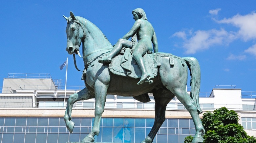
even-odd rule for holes
{"type": "Polygon", "coordinates": [[[138,82],[139,85],[143,82],[148,82],[147,79],[150,77],[146,70],[145,60],[142,56],[144,56],[147,51],[153,51],[153,49],[154,52],[158,52],[158,43],[155,30],[153,26],[147,21],[146,13],[144,10],[142,8],[136,8],[132,11],[132,14],[133,19],[135,20],[132,29],[127,34],[125,34],[122,39],[119,39],[113,50],[107,56],[99,59],[99,62],[110,63],[111,59],[121,51],[122,47],[134,47],[133,58],[138,63],[142,72],[141,78],[138,82]],[[132,37],[132,41],[128,40],[130,37],[132,37]]]}

